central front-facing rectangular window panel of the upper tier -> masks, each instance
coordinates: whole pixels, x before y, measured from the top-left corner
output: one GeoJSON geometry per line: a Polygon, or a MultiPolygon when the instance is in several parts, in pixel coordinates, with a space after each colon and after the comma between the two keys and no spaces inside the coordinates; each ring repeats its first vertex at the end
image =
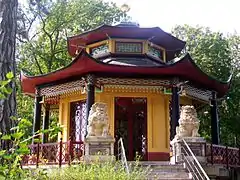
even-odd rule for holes
{"type": "Polygon", "coordinates": [[[142,53],[141,42],[116,42],[116,53],[142,53]]]}

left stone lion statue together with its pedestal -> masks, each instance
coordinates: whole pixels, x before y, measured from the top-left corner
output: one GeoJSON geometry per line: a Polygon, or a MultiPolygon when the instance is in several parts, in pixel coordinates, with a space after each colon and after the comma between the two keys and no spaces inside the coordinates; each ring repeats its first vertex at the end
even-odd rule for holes
{"type": "Polygon", "coordinates": [[[85,161],[114,161],[115,139],[109,134],[107,105],[97,102],[92,105],[84,140],[85,161]]]}

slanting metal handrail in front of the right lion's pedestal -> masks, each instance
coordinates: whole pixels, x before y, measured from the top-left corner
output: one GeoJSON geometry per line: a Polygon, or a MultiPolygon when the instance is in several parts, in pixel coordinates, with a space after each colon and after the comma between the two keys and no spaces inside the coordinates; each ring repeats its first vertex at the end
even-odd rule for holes
{"type": "Polygon", "coordinates": [[[197,160],[196,156],[193,154],[187,142],[184,139],[182,139],[182,142],[184,143],[184,146],[181,146],[181,149],[184,152],[181,152],[181,154],[184,159],[184,163],[186,164],[187,170],[193,175],[193,179],[210,180],[207,173],[197,160]]]}

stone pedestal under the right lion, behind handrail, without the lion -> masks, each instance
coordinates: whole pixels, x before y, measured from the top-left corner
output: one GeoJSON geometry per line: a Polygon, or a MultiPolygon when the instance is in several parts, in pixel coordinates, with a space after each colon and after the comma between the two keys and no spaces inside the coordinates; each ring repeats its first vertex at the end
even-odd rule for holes
{"type": "MultiPolygon", "coordinates": [[[[206,163],[206,156],[205,156],[205,146],[206,140],[202,137],[184,137],[183,138],[190,149],[192,150],[193,154],[196,156],[197,160],[205,164],[206,163]]],[[[173,155],[170,158],[171,164],[181,163],[183,162],[183,155],[184,154],[189,160],[191,160],[192,156],[188,156],[183,148],[187,149],[181,139],[173,139],[171,141],[171,146],[173,149],[173,155]]]]}

